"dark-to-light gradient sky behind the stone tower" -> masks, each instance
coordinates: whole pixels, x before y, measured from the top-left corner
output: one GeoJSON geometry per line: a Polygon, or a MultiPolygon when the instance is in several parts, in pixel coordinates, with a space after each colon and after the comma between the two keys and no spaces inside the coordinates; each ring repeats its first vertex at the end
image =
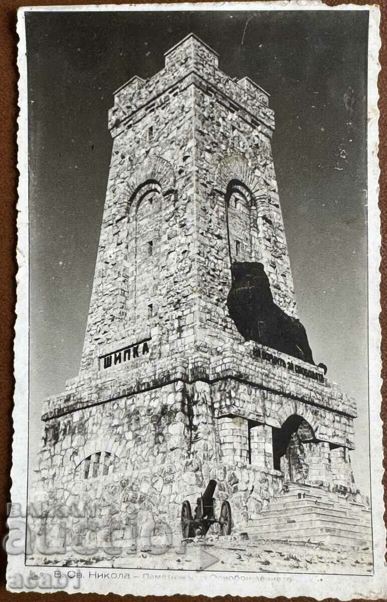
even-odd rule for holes
{"type": "Polygon", "coordinates": [[[369,491],[367,31],[362,11],[26,13],[30,426],[79,370],[111,154],[113,92],[149,78],[193,32],[231,77],[271,94],[274,166],[299,314],[315,361],[358,401],[357,482],[369,491]]]}

